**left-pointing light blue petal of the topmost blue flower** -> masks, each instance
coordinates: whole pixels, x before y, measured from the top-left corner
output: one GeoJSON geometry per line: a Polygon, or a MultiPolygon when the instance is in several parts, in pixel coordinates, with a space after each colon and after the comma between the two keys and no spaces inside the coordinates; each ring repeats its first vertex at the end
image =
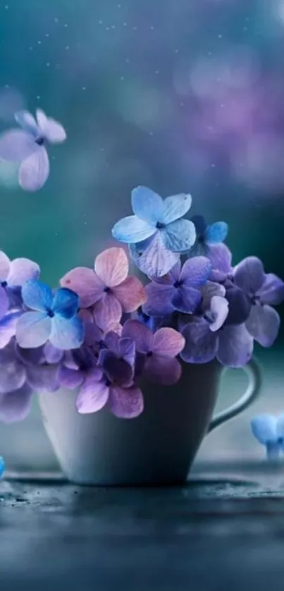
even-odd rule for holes
{"type": "Polygon", "coordinates": [[[117,221],[111,232],[113,238],[116,238],[119,242],[135,244],[153,236],[156,228],[144,219],[137,216],[128,216],[117,221]]]}

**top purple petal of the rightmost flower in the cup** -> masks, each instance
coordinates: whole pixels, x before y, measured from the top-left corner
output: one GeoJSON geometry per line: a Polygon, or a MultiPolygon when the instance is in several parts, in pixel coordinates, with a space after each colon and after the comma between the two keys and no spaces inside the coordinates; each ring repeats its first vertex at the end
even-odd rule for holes
{"type": "Polygon", "coordinates": [[[256,293],[264,280],[264,266],[257,257],[247,257],[234,269],[235,285],[249,295],[256,293]]]}

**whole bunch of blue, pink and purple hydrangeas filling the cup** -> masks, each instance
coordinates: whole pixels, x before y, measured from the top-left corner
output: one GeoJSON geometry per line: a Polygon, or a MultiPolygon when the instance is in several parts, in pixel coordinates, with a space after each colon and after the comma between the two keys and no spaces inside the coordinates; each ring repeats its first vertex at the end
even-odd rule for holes
{"type": "MultiPolygon", "coordinates": [[[[94,269],[68,272],[52,290],[39,266],[0,253],[0,418],[23,419],[32,394],[77,389],[79,413],[108,406],[142,413],[140,378],[178,382],[185,363],[242,367],[254,341],[273,344],[284,284],[257,257],[232,265],[228,226],[185,219],[190,195],[132,191],[134,214],[113,226],[149,279],[128,276],[127,250],[101,252],[94,269]]],[[[60,392],[58,392],[60,396],[60,392]]]]}

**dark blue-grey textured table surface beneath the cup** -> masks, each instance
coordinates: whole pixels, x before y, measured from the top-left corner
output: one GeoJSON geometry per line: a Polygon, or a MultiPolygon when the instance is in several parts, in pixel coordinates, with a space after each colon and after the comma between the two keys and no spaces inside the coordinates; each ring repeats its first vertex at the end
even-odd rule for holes
{"type": "Polygon", "coordinates": [[[283,591],[284,465],[202,469],[160,489],[10,475],[1,590],[283,591]]]}

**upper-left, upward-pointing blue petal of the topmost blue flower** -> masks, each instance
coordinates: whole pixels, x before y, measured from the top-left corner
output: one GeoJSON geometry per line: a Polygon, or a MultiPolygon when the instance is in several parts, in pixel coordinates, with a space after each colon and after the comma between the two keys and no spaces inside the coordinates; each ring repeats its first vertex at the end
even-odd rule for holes
{"type": "Polygon", "coordinates": [[[133,189],[131,204],[135,215],[146,220],[151,226],[156,226],[157,221],[163,221],[164,202],[152,189],[147,187],[133,189]]]}

